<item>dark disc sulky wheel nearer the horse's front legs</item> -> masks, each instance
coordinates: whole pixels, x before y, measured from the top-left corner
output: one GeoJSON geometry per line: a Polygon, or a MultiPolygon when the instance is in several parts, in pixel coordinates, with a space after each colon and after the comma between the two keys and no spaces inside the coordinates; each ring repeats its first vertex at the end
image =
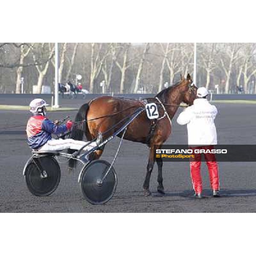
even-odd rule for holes
{"type": "Polygon", "coordinates": [[[105,160],[93,160],[81,172],[80,185],[84,198],[90,204],[105,204],[116,191],[116,172],[105,160]],[[103,177],[105,178],[103,179],[103,177]]]}

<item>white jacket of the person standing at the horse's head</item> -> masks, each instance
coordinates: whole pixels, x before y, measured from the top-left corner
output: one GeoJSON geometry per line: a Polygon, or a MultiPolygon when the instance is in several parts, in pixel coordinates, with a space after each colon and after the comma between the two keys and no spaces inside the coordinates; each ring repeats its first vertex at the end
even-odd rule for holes
{"type": "Polygon", "coordinates": [[[207,99],[195,99],[177,118],[177,123],[187,125],[189,145],[216,145],[217,132],[214,124],[217,108],[207,99]]]}

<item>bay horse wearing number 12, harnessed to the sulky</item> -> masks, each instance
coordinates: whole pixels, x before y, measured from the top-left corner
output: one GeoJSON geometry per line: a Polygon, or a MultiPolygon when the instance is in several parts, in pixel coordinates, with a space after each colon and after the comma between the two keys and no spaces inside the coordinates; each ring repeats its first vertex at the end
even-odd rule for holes
{"type": "MultiPolygon", "coordinates": [[[[93,99],[82,105],[79,109],[75,121],[81,122],[82,120],[86,120],[86,122],[83,122],[82,125],[74,125],[70,137],[74,140],[82,140],[83,134],[85,134],[87,140],[93,140],[99,133],[104,134],[104,132],[107,131],[107,133],[103,135],[104,140],[122,126],[122,124],[120,124],[111,129],[113,125],[116,125],[120,120],[131,115],[137,108],[145,108],[145,100],[148,103],[155,102],[157,104],[159,118],[154,119],[155,121],[152,122],[148,119],[145,111],[143,111],[128,125],[124,135],[125,140],[144,143],[148,145],[150,150],[147,172],[143,184],[144,195],[148,196],[151,194],[149,181],[155,162],[154,145],[155,149],[162,147],[163,143],[172,132],[171,119],[175,115],[180,103],[185,102],[187,105],[192,105],[196,98],[196,90],[197,87],[194,84],[192,85],[192,79],[188,74],[186,79],[180,76],[180,81],[177,84],[160,91],[154,98],[135,100],[102,96],[93,99]]],[[[121,136],[122,133],[119,134],[119,137],[121,136]]],[[[104,148],[101,148],[93,154],[90,154],[89,160],[98,159],[102,155],[103,150],[104,148]]],[[[69,153],[73,152],[74,150],[69,150],[69,153]]],[[[157,161],[157,165],[157,191],[164,194],[162,176],[163,161],[157,161]]],[[[70,159],[69,169],[72,169],[73,166],[74,160],[70,159]]]]}

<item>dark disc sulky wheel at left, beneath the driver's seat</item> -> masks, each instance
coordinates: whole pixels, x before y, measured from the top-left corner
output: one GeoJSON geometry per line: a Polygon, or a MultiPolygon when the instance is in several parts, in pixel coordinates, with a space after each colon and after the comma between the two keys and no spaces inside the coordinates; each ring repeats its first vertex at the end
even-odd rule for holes
{"type": "Polygon", "coordinates": [[[33,195],[51,195],[57,189],[60,179],[60,166],[52,156],[32,157],[26,166],[26,185],[33,195]]]}

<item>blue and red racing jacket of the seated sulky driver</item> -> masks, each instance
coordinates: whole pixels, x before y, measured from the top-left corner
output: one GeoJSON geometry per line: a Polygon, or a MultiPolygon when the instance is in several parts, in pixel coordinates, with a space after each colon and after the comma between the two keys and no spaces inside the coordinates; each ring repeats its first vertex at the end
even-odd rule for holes
{"type": "Polygon", "coordinates": [[[42,115],[31,116],[26,126],[27,143],[30,148],[37,149],[52,139],[51,134],[61,134],[65,131],[66,125],[55,125],[42,115]]]}

